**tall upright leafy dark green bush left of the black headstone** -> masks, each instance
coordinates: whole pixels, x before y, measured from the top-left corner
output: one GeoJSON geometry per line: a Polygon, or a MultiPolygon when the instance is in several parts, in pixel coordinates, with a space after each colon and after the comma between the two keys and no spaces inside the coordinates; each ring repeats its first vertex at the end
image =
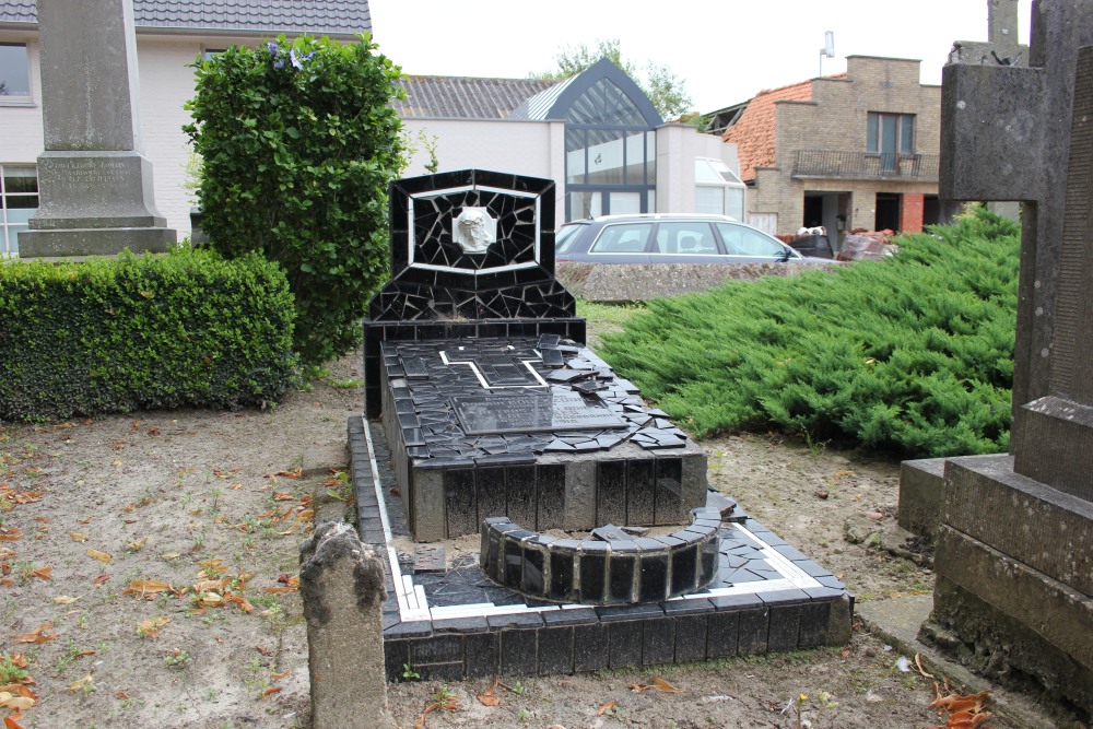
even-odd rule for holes
{"type": "Polygon", "coordinates": [[[367,35],[340,45],[284,36],[199,60],[184,127],[202,160],[210,245],[261,251],[296,297],[305,364],[350,351],[389,266],[387,186],[401,161],[389,99],[399,68],[367,35]]]}

